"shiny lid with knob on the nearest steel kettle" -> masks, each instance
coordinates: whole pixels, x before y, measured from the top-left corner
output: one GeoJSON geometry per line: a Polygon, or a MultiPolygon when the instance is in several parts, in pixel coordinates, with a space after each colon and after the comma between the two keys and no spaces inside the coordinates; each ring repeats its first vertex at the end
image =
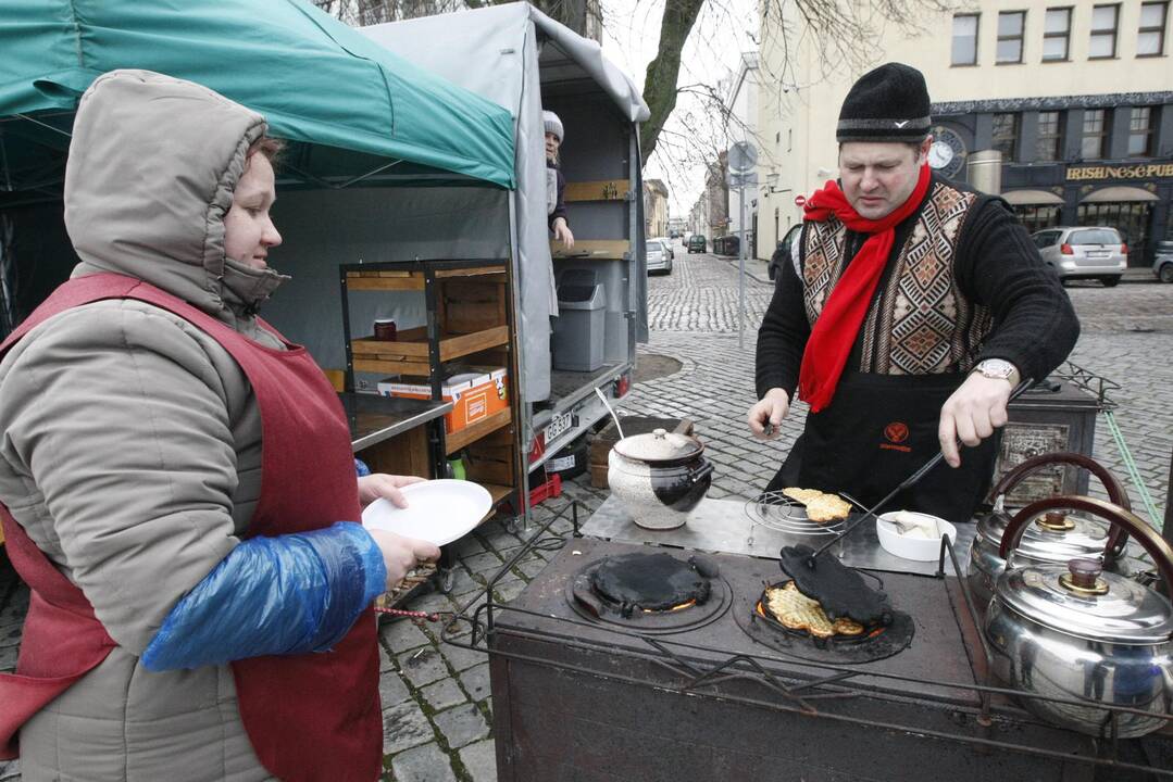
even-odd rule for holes
{"type": "Polygon", "coordinates": [[[1024,617],[1069,635],[1111,644],[1161,644],[1173,637],[1173,605],[1100,563],[1013,567],[997,598],[1024,617]]]}

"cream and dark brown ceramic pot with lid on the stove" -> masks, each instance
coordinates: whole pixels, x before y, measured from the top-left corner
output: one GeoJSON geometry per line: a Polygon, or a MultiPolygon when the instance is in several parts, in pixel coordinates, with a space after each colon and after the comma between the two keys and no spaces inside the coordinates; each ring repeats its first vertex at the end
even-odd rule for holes
{"type": "Polygon", "coordinates": [[[712,483],[696,437],[656,429],[624,437],[608,455],[606,481],[631,519],[650,530],[682,526],[712,483]]]}

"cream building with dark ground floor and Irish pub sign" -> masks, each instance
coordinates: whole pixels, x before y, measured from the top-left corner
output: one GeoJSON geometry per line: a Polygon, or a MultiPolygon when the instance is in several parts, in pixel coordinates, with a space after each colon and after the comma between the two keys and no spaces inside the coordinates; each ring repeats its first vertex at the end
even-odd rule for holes
{"type": "Polygon", "coordinates": [[[778,215],[764,240],[801,219],[796,195],[836,175],[842,100],[890,60],[928,81],[930,164],[977,184],[975,152],[996,150],[995,181],[1029,230],[1114,226],[1134,266],[1152,261],[1155,239],[1173,238],[1167,0],[969,2],[925,19],[924,32],[880,27],[875,55],[852,66],[827,62],[821,42],[781,23],[777,4],[761,9],[759,122],[775,141],[762,202],[778,215]]]}

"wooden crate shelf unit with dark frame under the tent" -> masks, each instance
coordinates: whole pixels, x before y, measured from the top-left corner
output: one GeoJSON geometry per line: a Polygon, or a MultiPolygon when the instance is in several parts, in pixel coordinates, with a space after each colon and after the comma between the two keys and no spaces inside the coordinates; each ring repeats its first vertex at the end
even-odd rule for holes
{"type": "Polygon", "coordinates": [[[354,387],[355,372],[407,375],[423,379],[432,386],[433,399],[440,399],[448,362],[466,359],[467,363],[507,367],[508,408],[452,434],[445,431],[442,420],[434,423],[429,435],[432,472],[443,476],[448,458],[462,453],[466,477],[488,489],[494,509],[516,495],[524,477],[524,454],[515,426],[520,379],[509,261],[348,265],[343,266],[340,281],[348,389],[354,387]],[[400,329],[395,341],[355,335],[350,322],[348,295],[392,291],[419,291],[430,326],[400,329]]]}

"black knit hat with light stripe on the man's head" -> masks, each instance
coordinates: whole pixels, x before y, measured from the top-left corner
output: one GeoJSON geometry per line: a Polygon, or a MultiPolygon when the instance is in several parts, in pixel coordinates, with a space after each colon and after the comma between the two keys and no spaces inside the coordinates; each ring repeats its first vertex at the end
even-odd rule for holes
{"type": "Polygon", "coordinates": [[[901,62],[870,70],[852,86],[839,111],[835,138],[918,142],[931,123],[924,74],[901,62]]]}

